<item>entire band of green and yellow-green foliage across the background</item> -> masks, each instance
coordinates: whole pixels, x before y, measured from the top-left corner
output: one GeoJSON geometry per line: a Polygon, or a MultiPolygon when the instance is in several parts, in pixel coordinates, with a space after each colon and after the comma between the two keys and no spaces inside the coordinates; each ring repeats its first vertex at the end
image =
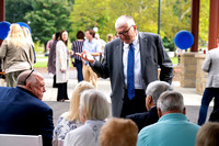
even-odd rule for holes
{"type": "MultiPolygon", "coordinates": [[[[34,42],[45,44],[56,32],[67,30],[76,40],[79,30],[99,27],[101,38],[115,34],[115,21],[127,14],[140,32],[158,32],[159,0],[5,0],[9,22],[31,22],[34,42]]],[[[164,46],[175,49],[174,36],[191,30],[192,0],[162,0],[160,35],[164,46]]],[[[209,0],[200,1],[199,45],[208,41],[209,0]]]]}

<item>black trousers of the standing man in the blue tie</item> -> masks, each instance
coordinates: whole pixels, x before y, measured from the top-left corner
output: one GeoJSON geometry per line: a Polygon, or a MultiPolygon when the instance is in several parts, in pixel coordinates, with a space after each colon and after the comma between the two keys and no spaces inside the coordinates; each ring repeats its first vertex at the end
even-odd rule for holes
{"type": "Polygon", "coordinates": [[[134,113],[147,112],[145,90],[136,89],[135,94],[135,98],[130,100],[127,96],[127,90],[125,90],[124,104],[120,117],[125,117],[126,115],[134,113]]]}

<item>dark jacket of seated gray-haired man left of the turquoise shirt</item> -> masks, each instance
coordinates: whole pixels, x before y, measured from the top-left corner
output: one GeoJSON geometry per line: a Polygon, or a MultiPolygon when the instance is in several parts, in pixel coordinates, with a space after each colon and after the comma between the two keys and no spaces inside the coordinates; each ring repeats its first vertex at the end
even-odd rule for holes
{"type": "Polygon", "coordinates": [[[138,131],[150,124],[157,123],[159,120],[157,106],[151,108],[148,112],[127,115],[126,119],[131,119],[138,126],[138,131]]]}

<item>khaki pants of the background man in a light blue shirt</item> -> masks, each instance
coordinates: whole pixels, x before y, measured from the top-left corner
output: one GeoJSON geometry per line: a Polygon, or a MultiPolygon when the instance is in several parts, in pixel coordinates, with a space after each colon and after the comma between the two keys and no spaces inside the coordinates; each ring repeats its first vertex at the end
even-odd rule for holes
{"type": "Polygon", "coordinates": [[[96,88],[97,75],[91,69],[90,66],[83,65],[83,79],[91,82],[96,88]]]}

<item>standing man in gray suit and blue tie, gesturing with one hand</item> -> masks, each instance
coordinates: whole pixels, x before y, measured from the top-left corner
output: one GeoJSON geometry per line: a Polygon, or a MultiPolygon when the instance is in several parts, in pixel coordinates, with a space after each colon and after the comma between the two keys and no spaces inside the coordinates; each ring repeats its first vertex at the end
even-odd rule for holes
{"type": "Polygon", "coordinates": [[[173,65],[161,37],[138,32],[131,16],[119,16],[115,29],[118,38],[105,45],[103,64],[89,52],[78,55],[90,63],[99,77],[110,77],[112,114],[125,117],[147,111],[145,89],[148,83],[158,80],[158,66],[161,68],[160,80],[171,83],[173,65]]]}

